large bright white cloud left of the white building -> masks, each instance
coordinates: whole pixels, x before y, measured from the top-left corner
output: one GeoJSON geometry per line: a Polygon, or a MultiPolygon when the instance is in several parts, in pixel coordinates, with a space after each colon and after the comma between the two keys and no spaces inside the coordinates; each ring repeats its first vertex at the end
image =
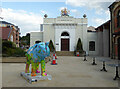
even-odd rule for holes
{"type": "Polygon", "coordinates": [[[4,21],[17,25],[20,28],[21,35],[26,35],[26,33],[31,31],[39,31],[40,24],[43,23],[43,18],[40,14],[24,10],[2,8],[1,17],[4,18],[4,21]]]}

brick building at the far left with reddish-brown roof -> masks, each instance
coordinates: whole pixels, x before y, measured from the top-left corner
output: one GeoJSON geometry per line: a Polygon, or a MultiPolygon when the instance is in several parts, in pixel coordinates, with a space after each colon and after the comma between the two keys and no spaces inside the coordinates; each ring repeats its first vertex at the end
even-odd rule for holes
{"type": "Polygon", "coordinates": [[[16,47],[19,47],[20,29],[18,26],[6,21],[0,21],[0,34],[2,40],[12,41],[16,44],[16,47]]]}

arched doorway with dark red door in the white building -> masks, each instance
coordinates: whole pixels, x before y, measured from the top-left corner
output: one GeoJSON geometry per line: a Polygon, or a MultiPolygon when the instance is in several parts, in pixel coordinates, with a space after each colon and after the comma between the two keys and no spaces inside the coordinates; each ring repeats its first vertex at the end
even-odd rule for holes
{"type": "Polygon", "coordinates": [[[70,39],[69,34],[67,32],[63,32],[61,34],[61,51],[69,51],[70,47],[70,39]]]}

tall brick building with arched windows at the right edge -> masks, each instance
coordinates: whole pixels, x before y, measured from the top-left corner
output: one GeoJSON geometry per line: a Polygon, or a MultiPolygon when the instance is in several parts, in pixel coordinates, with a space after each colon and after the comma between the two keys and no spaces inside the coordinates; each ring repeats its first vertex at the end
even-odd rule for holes
{"type": "Polygon", "coordinates": [[[109,6],[111,16],[110,55],[120,60],[120,1],[109,6]]]}

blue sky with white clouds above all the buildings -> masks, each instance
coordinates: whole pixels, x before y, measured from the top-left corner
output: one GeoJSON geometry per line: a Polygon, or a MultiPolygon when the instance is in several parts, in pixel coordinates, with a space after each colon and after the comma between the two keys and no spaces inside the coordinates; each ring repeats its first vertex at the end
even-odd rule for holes
{"type": "Polygon", "coordinates": [[[82,18],[86,14],[88,26],[97,27],[110,19],[108,7],[113,2],[114,0],[4,0],[0,4],[0,17],[17,25],[21,36],[40,31],[44,14],[48,14],[48,18],[56,18],[64,7],[75,18],[82,18]]]}

